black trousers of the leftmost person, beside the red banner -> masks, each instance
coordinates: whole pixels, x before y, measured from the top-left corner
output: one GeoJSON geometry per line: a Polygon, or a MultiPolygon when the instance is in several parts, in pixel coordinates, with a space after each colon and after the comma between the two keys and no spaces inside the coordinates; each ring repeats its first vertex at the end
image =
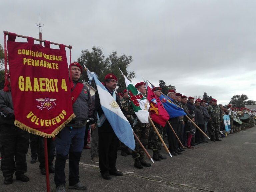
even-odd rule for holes
{"type": "Polygon", "coordinates": [[[1,169],[3,176],[21,175],[27,172],[26,154],[29,146],[29,133],[15,125],[0,125],[2,145],[1,169]]]}

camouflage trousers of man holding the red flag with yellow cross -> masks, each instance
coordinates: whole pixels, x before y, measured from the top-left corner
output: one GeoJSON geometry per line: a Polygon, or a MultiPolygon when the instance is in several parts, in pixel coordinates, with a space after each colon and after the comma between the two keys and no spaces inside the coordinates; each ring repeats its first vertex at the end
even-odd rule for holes
{"type": "MultiPolygon", "coordinates": [[[[159,134],[161,135],[161,137],[163,138],[163,127],[161,125],[158,125],[155,123],[156,129],[159,132],[159,134]]],[[[155,132],[155,129],[153,128],[153,126],[150,126],[150,135],[151,135],[151,148],[153,151],[157,151],[160,150],[161,147],[161,140],[158,137],[157,133],[155,132]]]]}

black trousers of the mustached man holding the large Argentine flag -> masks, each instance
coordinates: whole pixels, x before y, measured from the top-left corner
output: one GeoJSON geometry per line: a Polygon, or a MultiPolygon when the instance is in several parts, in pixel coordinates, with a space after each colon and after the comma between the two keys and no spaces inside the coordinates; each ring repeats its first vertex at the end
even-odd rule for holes
{"type": "Polygon", "coordinates": [[[114,132],[102,132],[99,129],[98,133],[100,172],[115,170],[119,139],[114,132]]]}

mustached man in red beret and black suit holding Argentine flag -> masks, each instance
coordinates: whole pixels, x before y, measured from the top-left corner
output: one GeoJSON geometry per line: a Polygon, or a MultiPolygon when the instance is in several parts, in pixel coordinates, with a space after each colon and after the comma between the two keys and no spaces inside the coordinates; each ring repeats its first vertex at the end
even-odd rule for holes
{"type": "MultiPolygon", "coordinates": [[[[120,108],[121,102],[118,95],[115,93],[117,86],[117,77],[110,73],[105,76],[105,85],[109,94],[116,99],[117,104],[120,108]]],[[[95,109],[98,112],[99,117],[104,114],[101,104],[99,93],[95,93],[95,109]]],[[[99,134],[99,167],[101,176],[104,179],[111,179],[111,175],[122,176],[123,173],[116,169],[116,157],[119,145],[119,139],[117,138],[113,128],[111,127],[107,119],[104,120],[101,126],[98,126],[99,134]]]]}

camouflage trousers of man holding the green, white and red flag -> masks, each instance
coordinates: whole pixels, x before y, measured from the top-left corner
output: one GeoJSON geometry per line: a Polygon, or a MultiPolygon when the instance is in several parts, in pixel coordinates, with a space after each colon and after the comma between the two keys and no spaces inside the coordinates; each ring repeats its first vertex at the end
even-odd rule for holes
{"type": "MultiPolygon", "coordinates": [[[[138,122],[133,127],[133,131],[137,135],[137,137],[139,138],[142,145],[146,148],[146,146],[148,144],[149,124],[138,122]]],[[[135,149],[132,152],[132,157],[134,159],[137,159],[137,158],[140,158],[140,157],[143,158],[144,156],[145,156],[144,150],[140,146],[139,142],[135,139],[135,149]]]]}

